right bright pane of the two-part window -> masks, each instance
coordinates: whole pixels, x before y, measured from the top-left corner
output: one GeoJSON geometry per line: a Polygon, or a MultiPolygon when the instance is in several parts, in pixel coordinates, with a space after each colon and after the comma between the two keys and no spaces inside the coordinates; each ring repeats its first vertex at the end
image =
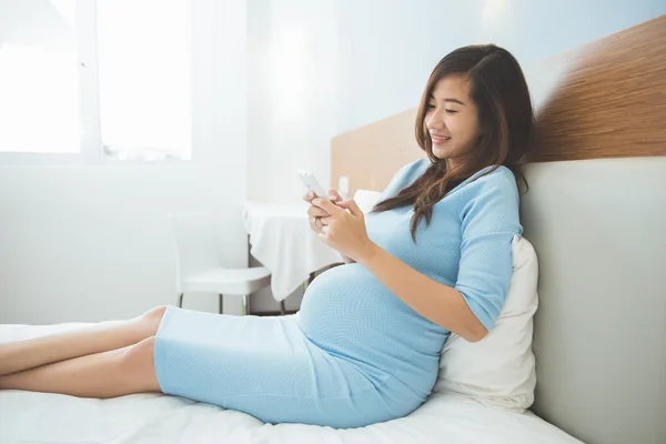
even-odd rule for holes
{"type": "Polygon", "coordinates": [[[190,2],[99,0],[100,123],[119,159],[190,159],[190,2]]]}

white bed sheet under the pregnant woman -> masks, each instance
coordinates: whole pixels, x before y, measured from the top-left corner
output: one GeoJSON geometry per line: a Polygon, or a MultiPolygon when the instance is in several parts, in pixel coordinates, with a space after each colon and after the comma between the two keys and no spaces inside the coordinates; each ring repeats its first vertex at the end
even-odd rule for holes
{"type": "MultiPolygon", "coordinates": [[[[0,342],[82,324],[0,325],[0,342]]],[[[161,394],[112,400],[0,391],[0,443],[581,443],[534,414],[433,394],[407,417],[363,428],[264,424],[244,413],[161,394]]]]}

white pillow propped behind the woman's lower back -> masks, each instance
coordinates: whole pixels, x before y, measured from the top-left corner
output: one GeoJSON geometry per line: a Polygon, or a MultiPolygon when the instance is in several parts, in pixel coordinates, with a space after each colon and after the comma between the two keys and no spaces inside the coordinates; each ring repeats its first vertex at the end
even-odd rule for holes
{"type": "Polygon", "coordinates": [[[526,239],[514,236],[512,249],[513,274],[495,327],[475,343],[450,335],[434,391],[463,393],[486,405],[523,412],[534,402],[536,386],[532,332],[538,263],[526,239]]]}

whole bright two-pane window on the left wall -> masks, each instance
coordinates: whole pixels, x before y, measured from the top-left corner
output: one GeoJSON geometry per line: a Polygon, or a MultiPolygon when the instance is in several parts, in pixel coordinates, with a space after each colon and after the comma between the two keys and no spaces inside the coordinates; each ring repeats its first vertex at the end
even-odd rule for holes
{"type": "Polygon", "coordinates": [[[190,3],[0,2],[0,152],[191,159],[190,3]]]}

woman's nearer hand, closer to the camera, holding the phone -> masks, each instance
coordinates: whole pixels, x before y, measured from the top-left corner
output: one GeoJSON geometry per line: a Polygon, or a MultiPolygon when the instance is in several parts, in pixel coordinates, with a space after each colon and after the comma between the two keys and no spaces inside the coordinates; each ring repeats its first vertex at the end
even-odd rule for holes
{"type": "Polygon", "coordinates": [[[353,199],[332,203],[315,198],[311,203],[329,214],[317,216],[322,242],[356,262],[373,253],[376,245],[367,236],[365,215],[353,199]]]}

